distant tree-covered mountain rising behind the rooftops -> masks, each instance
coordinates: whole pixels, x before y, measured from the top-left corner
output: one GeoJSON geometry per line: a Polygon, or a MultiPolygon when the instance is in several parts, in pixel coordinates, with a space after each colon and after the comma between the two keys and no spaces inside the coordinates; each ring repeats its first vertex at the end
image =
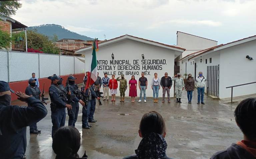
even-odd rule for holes
{"type": "Polygon", "coordinates": [[[37,30],[38,33],[46,35],[49,39],[54,39],[54,34],[58,36],[58,40],[61,39],[81,39],[81,40],[93,40],[90,37],[80,35],[71,32],[64,27],[56,24],[43,24],[40,26],[28,27],[28,30],[37,30]]]}

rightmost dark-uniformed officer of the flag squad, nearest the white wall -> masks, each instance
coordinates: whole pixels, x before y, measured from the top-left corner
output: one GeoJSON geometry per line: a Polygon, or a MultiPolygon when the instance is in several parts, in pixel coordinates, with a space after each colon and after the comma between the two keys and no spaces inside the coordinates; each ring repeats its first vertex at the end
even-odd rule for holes
{"type": "Polygon", "coordinates": [[[91,85],[90,91],[91,91],[91,95],[92,95],[92,100],[91,100],[91,109],[90,109],[90,113],[89,113],[88,122],[96,122],[97,120],[95,120],[93,118],[93,115],[94,115],[95,107],[96,107],[96,99],[100,100],[100,98],[97,96],[96,88],[93,85],[91,85]]]}

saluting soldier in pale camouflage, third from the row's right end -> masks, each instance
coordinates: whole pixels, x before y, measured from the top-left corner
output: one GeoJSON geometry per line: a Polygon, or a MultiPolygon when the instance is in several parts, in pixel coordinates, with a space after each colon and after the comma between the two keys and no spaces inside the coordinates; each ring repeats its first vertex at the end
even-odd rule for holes
{"type": "Polygon", "coordinates": [[[184,80],[180,76],[180,73],[177,73],[172,78],[173,81],[175,81],[175,95],[176,95],[176,103],[181,103],[181,97],[182,97],[182,91],[184,90],[184,80]]]}

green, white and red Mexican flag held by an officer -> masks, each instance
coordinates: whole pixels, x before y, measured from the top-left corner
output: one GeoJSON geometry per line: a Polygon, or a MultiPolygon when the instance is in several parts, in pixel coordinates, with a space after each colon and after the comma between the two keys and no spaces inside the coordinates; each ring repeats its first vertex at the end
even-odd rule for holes
{"type": "Polygon", "coordinates": [[[98,50],[98,41],[95,39],[92,44],[92,55],[91,55],[91,63],[89,65],[88,77],[86,88],[88,85],[92,85],[97,80],[97,58],[96,58],[96,50],[98,50]]]}

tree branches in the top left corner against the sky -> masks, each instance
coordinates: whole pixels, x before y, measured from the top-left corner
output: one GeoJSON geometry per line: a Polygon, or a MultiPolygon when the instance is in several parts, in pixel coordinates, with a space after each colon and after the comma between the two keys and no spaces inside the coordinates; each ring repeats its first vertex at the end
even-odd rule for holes
{"type": "Polygon", "coordinates": [[[3,14],[7,17],[16,14],[16,11],[22,6],[18,1],[4,1],[0,2],[0,14],[3,14]]]}

